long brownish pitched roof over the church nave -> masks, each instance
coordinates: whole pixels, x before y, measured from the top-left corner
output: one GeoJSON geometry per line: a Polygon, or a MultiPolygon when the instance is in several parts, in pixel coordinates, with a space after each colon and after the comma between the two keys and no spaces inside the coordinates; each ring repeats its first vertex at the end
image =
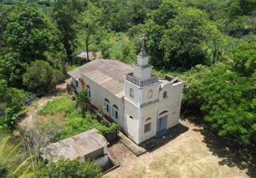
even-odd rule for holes
{"type": "Polygon", "coordinates": [[[125,74],[133,72],[130,65],[117,60],[96,59],[68,72],[75,79],[80,73],[119,98],[124,96],[125,74]]]}

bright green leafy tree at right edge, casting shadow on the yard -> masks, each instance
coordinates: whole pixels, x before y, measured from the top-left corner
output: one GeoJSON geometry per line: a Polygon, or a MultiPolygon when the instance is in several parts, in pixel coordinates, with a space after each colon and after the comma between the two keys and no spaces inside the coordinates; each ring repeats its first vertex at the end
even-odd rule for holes
{"type": "MultiPolygon", "coordinates": [[[[256,113],[250,81],[223,64],[204,77],[200,93],[205,120],[218,130],[219,136],[234,136],[242,144],[255,141],[256,113]]],[[[254,96],[255,97],[255,96],[254,96]]]]}

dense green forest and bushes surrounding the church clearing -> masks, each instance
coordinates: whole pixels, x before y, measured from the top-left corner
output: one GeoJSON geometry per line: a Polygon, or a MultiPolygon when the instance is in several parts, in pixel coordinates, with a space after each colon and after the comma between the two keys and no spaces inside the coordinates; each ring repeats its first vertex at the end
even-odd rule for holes
{"type": "MultiPolygon", "coordinates": [[[[68,70],[92,60],[79,52],[132,64],[145,34],[153,72],[186,82],[183,114],[203,116],[200,122],[234,143],[255,144],[255,33],[255,0],[0,0],[1,134],[17,128],[28,97],[52,92],[68,70]]],[[[10,175],[2,145],[0,174],[10,175]]],[[[98,168],[85,170],[90,162],[75,162],[38,163],[33,176],[61,166],[70,172],[56,177],[100,176],[98,168]]]]}

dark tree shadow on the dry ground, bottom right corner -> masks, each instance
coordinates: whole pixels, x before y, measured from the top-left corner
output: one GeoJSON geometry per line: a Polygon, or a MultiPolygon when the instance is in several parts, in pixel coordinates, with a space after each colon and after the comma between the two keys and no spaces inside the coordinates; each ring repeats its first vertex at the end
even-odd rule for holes
{"type": "Polygon", "coordinates": [[[242,146],[234,143],[231,139],[220,138],[215,130],[210,126],[203,129],[193,129],[204,136],[203,142],[206,143],[213,155],[222,158],[219,165],[228,167],[238,167],[247,169],[247,175],[256,177],[256,146],[242,146]]]}

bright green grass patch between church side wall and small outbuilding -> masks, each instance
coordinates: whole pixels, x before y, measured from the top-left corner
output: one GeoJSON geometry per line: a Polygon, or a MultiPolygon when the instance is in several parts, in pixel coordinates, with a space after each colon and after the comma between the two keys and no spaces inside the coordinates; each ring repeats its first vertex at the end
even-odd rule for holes
{"type": "Polygon", "coordinates": [[[99,134],[107,134],[118,129],[118,125],[112,123],[111,125],[106,125],[105,123],[100,123],[96,116],[92,115],[90,112],[86,113],[86,117],[82,117],[80,109],[76,108],[76,102],[69,99],[66,94],[60,97],[55,97],[52,101],[46,103],[42,108],[38,110],[41,115],[51,115],[63,116],[64,122],[61,124],[61,134],[58,140],[72,137],[78,133],[96,128],[99,134]]]}

